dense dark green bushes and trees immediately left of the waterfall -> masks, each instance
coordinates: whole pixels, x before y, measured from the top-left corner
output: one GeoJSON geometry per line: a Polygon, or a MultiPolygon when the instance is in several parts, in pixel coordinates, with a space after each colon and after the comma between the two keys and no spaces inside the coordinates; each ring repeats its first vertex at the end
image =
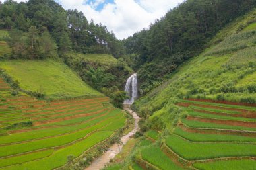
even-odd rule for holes
{"type": "Polygon", "coordinates": [[[125,81],[131,74],[131,69],[125,65],[123,58],[119,58],[117,63],[111,65],[101,65],[73,53],[63,55],[63,59],[82,80],[110,97],[113,105],[122,107],[127,95],[121,89],[124,88],[125,81]]]}

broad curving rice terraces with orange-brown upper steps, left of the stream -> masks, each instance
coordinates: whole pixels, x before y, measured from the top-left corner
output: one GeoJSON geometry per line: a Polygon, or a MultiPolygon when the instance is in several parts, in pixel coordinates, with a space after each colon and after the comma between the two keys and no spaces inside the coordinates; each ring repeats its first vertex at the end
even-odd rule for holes
{"type": "Polygon", "coordinates": [[[55,169],[125,124],[107,97],[68,101],[12,97],[0,78],[0,169],[55,169]]]}

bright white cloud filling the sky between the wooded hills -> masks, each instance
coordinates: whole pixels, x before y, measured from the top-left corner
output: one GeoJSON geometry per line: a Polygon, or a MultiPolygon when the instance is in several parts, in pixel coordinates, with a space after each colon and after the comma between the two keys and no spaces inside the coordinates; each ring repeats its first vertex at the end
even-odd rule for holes
{"type": "Polygon", "coordinates": [[[96,7],[104,0],[95,0],[84,5],[86,1],[88,0],[58,0],[65,9],[77,9],[82,11],[89,21],[94,19],[94,22],[106,25],[119,39],[148,28],[150,23],[165,15],[170,8],[183,2],[183,0],[114,0],[114,3],[106,3],[101,11],[96,11],[96,7]]]}

